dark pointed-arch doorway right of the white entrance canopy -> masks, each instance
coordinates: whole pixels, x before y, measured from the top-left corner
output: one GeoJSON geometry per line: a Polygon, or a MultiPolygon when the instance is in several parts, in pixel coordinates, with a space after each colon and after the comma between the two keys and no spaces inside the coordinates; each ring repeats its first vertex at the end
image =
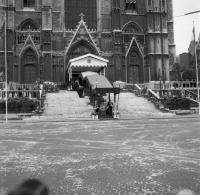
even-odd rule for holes
{"type": "Polygon", "coordinates": [[[143,60],[141,54],[133,49],[127,58],[128,61],[128,82],[142,83],[143,82],[143,60]]]}

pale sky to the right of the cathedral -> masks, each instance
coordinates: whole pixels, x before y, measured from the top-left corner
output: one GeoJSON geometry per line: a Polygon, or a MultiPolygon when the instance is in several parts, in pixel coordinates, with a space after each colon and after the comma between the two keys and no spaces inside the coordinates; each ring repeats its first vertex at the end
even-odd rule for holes
{"type": "MultiPolygon", "coordinates": [[[[188,51],[192,39],[193,21],[195,24],[196,37],[200,33],[200,13],[177,17],[188,12],[200,10],[200,0],[172,0],[174,6],[174,36],[176,54],[188,51]]],[[[196,38],[196,39],[197,39],[196,38]]]]}

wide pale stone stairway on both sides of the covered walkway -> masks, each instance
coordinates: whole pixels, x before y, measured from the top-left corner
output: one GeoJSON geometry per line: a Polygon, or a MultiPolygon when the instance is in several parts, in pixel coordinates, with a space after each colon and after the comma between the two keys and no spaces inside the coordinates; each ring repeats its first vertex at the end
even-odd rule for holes
{"type": "MultiPolygon", "coordinates": [[[[39,119],[45,121],[90,120],[92,111],[88,97],[79,98],[74,91],[60,91],[47,94],[45,111],[39,119]]],[[[120,94],[119,111],[121,119],[165,118],[172,115],[161,113],[145,98],[128,92],[120,94]]],[[[31,119],[37,120],[38,116],[31,119]]]]}

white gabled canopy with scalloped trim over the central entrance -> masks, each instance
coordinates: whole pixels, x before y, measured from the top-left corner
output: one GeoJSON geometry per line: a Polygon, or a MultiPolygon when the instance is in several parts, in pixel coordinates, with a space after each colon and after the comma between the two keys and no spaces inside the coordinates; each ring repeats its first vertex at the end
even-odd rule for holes
{"type": "Polygon", "coordinates": [[[72,80],[73,75],[79,75],[81,72],[92,71],[105,75],[105,68],[108,60],[93,54],[86,54],[69,61],[67,73],[69,81],[72,80]]]}

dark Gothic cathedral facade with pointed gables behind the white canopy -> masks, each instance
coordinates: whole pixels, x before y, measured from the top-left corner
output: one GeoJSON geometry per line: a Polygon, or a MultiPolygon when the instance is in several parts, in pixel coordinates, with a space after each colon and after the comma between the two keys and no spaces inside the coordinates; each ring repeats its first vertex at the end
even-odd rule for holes
{"type": "Polygon", "coordinates": [[[65,83],[70,59],[109,60],[110,81],[169,80],[175,44],[172,0],[0,0],[0,72],[5,17],[9,81],[65,83]]]}

